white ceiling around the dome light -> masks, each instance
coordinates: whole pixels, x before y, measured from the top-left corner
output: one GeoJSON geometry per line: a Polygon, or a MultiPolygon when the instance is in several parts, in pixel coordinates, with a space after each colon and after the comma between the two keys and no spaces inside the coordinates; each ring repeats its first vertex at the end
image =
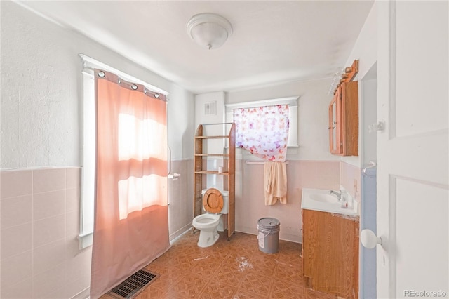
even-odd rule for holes
{"type": "Polygon", "coordinates": [[[20,1],[194,93],[332,77],[373,6],[366,1],[20,1]],[[233,27],[221,48],[187,35],[196,13],[233,27]]]}

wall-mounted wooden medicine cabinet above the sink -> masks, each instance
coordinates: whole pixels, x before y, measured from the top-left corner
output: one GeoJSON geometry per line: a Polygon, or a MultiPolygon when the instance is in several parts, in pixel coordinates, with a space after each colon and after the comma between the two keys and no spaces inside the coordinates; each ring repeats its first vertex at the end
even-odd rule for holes
{"type": "Polygon", "coordinates": [[[358,156],[358,81],[338,86],[329,104],[330,153],[358,156]]]}

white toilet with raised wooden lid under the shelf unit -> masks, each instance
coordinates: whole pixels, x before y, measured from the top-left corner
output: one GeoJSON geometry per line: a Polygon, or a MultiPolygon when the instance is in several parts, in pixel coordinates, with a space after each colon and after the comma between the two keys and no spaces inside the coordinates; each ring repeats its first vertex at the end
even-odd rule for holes
{"type": "Polygon", "coordinates": [[[203,196],[203,213],[192,221],[192,225],[199,232],[199,247],[209,247],[215,244],[218,239],[217,230],[224,231],[225,225],[222,214],[228,211],[228,192],[215,188],[201,191],[203,196]]]}

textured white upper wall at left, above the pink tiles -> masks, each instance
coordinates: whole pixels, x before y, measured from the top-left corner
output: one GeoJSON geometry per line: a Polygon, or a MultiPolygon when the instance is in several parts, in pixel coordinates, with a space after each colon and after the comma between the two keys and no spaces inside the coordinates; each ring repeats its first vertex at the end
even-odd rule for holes
{"type": "Polygon", "coordinates": [[[16,4],[1,6],[1,167],[77,166],[80,62],[72,36],[16,4]]]}

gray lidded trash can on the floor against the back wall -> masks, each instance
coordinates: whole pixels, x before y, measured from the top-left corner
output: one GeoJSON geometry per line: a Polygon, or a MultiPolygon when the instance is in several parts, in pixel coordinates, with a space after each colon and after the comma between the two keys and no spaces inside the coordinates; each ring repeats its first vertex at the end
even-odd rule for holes
{"type": "Polygon", "coordinates": [[[276,253],[279,248],[279,227],[281,222],[276,218],[260,218],[257,222],[257,240],[259,250],[264,253],[276,253]]]}

